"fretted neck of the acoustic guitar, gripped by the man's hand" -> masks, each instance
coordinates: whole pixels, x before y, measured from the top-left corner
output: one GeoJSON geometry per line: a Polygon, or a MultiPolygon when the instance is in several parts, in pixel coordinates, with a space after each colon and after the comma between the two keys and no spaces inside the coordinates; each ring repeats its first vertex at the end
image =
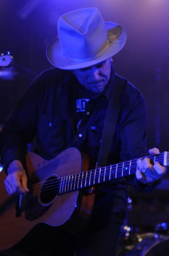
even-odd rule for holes
{"type": "MultiPolygon", "coordinates": [[[[163,152],[155,156],[148,156],[151,162],[158,161],[163,166],[169,165],[169,152],[163,152]]],[[[146,158],[146,157],[143,157],[146,158]]],[[[71,191],[79,190],[88,186],[104,183],[109,180],[135,174],[137,159],[123,163],[117,163],[110,166],[93,169],[87,172],[81,172],[75,175],[65,176],[59,179],[59,195],[71,191]]]]}

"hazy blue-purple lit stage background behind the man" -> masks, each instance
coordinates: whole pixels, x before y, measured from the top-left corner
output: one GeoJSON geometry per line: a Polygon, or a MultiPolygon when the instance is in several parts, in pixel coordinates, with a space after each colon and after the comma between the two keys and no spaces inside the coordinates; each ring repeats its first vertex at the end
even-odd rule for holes
{"type": "MultiPolygon", "coordinates": [[[[138,87],[146,100],[148,147],[168,151],[168,0],[0,0],[0,52],[6,55],[10,51],[14,57],[12,67],[0,69],[0,124],[37,74],[51,67],[45,48],[57,35],[58,17],[83,7],[98,7],[104,20],[119,23],[126,30],[127,43],[113,58],[115,71],[138,87]]],[[[167,195],[166,201],[168,177],[169,172],[156,192],[160,191],[161,198],[167,195]]],[[[151,202],[155,197],[152,194],[151,202]]],[[[153,225],[164,220],[164,216],[158,218],[162,208],[155,209],[153,225]]]]}

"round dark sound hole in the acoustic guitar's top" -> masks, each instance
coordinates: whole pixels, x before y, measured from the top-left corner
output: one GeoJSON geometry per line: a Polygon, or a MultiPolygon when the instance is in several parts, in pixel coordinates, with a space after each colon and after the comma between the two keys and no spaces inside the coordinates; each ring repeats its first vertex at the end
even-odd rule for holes
{"type": "Polygon", "coordinates": [[[42,185],[40,192],[40,201],[42,204],[48,204],[57,196],[58,192],[58,178],[56,176],[51,176],[42,185]]]}

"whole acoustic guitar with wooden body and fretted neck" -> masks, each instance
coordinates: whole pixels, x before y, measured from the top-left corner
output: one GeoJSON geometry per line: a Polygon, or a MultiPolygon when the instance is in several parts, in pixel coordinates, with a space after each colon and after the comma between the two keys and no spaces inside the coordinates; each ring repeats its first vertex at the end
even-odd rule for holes
{"type": "MultiPolygon", "coordinates": [[[[151,161],[169,165],[169,152],[149,156],[151,161]]],[[[26,154],[28,188],[25,195],[9,196],[0,172],[0,250],[17,244],[36,224],[76,226],[88,220],[93,209],[96,184],[135,174],[137,160],[88,170],[88,157],[68,148],[52,160],[26,154]],[[83,193],[82,193],[83,192],[83,193]]]]}

